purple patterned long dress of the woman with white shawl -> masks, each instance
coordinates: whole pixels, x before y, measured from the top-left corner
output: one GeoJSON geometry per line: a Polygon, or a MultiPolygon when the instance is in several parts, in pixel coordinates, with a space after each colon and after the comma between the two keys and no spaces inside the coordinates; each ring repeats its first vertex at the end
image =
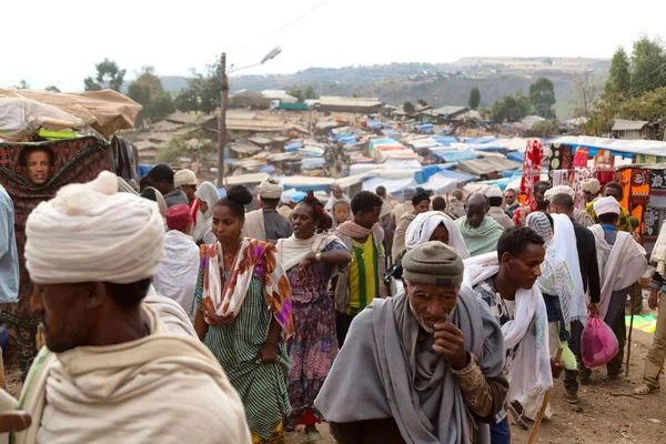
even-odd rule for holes
{"type": "MultiPolygon", "coordinates": [[[[339,242],[329,243],[324,252],[345,250],[339,242]]],[[[337,272],[334,265],[314,262],[305,269],[289,270],[291,301],[294,311],[294,335],[286,343],[291,361],[289,400],[290,425],[324,421],[314,400],[337,356],[335,307],[329,296],[329,282],[337,272]],[[310,413],[310,414],[307,414],[310,413]]]]}

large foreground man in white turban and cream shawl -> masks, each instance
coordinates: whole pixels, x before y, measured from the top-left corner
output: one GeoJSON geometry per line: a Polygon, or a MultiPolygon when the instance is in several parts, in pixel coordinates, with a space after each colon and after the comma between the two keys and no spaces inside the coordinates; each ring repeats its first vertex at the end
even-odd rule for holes
{"type": "Polygon", "coordinates": [[[170,334],[159,309],[142,302],[162,261],[163,220],[155,203],[117,186],[102,172],[28,218],[32,307],[47,346],[21,394],[31,425],[16,441],[250,443],[215,357],[196,339],[170,334]]]}

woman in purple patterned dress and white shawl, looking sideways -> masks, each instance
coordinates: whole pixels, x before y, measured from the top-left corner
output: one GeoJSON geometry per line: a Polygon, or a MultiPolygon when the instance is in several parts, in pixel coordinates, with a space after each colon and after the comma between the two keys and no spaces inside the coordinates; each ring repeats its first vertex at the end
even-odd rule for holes
{"type": "Polygon", "coordinates": [[[324,417],[314,407],[314,400],[337,355],[335,307],[329,282],[339,268],[345,268],[352,260],[342,241],[325,233],[331,222],[323,205],[309,193],[292,214],[293,234],[276,245],[289,275],[295,326],[287,342],[292,363],[289,372],[292,415],[287,427],[305,425],[307,442],[320,440],[315,424],[324,417]],[[324,234],[316,233],[317,229],[324,234]]]}

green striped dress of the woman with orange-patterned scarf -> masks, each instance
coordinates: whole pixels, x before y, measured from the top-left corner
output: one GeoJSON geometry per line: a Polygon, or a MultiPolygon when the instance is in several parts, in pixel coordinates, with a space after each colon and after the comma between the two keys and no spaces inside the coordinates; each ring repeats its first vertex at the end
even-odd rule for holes
{"type": "MultiPolygon", "coordinates": [[[[200,273],[201,279],[201,273],[200,273]]],[[[229,279],[229,272],[224,272],[229,279]]],[[[203,310],[198,285],[196,305],[203,310]]],[[[273,313],[263,294],[264,283],[252,276],[238,316],[228,324],[209,325],[204,344],[218,357],[231,384],[241,395],[250,431],[268,442],[281,422],[291,414],[286,377],[290,369],[286,346],[278,343],[274,364],[264,365],[258,356],[269,335],[273,313]]]]}

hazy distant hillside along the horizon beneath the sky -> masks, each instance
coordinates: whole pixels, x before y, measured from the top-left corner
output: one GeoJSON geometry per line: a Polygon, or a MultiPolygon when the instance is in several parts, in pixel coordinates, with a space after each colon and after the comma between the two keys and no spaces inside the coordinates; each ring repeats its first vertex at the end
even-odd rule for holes
{"type": "MultiPolygon", "coordinates": [[[[583,58],[464,58],[453,63],[391,63],[366,67],[310,68],[291,74],[244,75],[230,79],[231,90],[304,88],[312,84],[319,94],[379,97],[400,104],[423,99],[437,107],[467,103],[470,89],[478,87],[482,107],[506,94],[523,90],[538,77],[555,84],[555,111],[561,119],[572,117],[575,99],[572,75],[584,70],[595,72],[603,84],[609,60],[583,58]]],[[[176,92],[186,84],[184,78],[163,78],[164,88],[176,92]]]]}

